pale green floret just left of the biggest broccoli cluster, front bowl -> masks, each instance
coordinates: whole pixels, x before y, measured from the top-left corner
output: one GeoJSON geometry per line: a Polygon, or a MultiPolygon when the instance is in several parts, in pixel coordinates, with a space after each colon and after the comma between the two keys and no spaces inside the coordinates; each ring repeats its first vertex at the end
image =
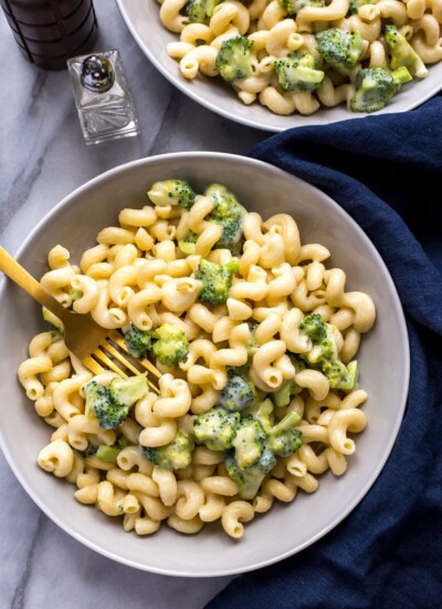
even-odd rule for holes
{"type": "Polygon", "coordinates": [[[240,424],[238,412],[227,412],[220,406],[199,414],[193,423],[193,433],[200,444],[211,451],[225,451],[233,446],[240,424]]]}

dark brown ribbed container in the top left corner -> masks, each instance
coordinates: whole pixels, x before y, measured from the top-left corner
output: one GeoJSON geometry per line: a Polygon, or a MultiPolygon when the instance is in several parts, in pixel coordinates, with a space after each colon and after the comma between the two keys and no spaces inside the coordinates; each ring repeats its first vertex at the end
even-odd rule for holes
{"type": "Polygon", "coordinates": [[[92,49],[97,33],[93,0],[0,0],[23,54],[46,70],[92,49]]]}

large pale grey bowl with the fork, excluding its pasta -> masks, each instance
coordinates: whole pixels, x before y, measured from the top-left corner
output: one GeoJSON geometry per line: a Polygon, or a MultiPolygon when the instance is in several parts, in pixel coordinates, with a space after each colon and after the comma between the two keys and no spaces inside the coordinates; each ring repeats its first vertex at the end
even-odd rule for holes
{"type": "Polygon", "coordinates": [[[332,264],[345,269],[348,288],[375,299],[378,321],[364,338],[358,355],[360,383],[369,400],[368,426],[358,435],[355,455],[341,478],[322,476],[314,495],[275,505],[245,528],[240,541],[219,524],[196,536],[167,526],[152,537],[124,533],[120,522],[73,498],[74,487],[35,464],[51,429],[34,413],[17,380],[30,338],[43,331],[40,307],[11,282],[1,279],[0,440],[20,483],[41,509],[66,533],[98,553],[126,565],[158,574],[203,577],[238,574],[281,560],[313,544],[360,502],[379,475],[402,420],[409,381],[409,345],[402,309],[379,254],[357,224],[329,197],[271,165],[217,153],[182,153],[122,165],[88,182],[60,203],[29,236],[19,259],[35,277],[45,270],[48,250],[56,244],[72,259],[94,244],[124,206],[146,204],[146,190],[158,179],[189,179],[201,192],[212,182],[229,186],[250,209],[269,217],[292,214],[303,242],[320,242],[333,252],[332,264]],[[391,340],[391,337],[394,340],[391,340]]]}

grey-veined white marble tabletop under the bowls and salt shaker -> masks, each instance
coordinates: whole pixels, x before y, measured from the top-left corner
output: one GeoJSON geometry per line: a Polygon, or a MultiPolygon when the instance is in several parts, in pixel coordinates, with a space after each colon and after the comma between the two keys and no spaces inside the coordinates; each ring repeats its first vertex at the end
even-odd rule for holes
{"type": "MultiPolygon", "coordinates": [[[[138,49],[115,3],[95,0],[95,49],[120,50],[141,135],[88,147],[67,72],[28,63],[0,14],[0,242],[12,252],[59,200],[110,167],[176,151],[245,154],[266,137],[172,89],[138,49]]],[[[1,453],[0,503],[0,609],[197,609],[229,581],[156,576],[83,547],[32,503],[1,453]]]]}

